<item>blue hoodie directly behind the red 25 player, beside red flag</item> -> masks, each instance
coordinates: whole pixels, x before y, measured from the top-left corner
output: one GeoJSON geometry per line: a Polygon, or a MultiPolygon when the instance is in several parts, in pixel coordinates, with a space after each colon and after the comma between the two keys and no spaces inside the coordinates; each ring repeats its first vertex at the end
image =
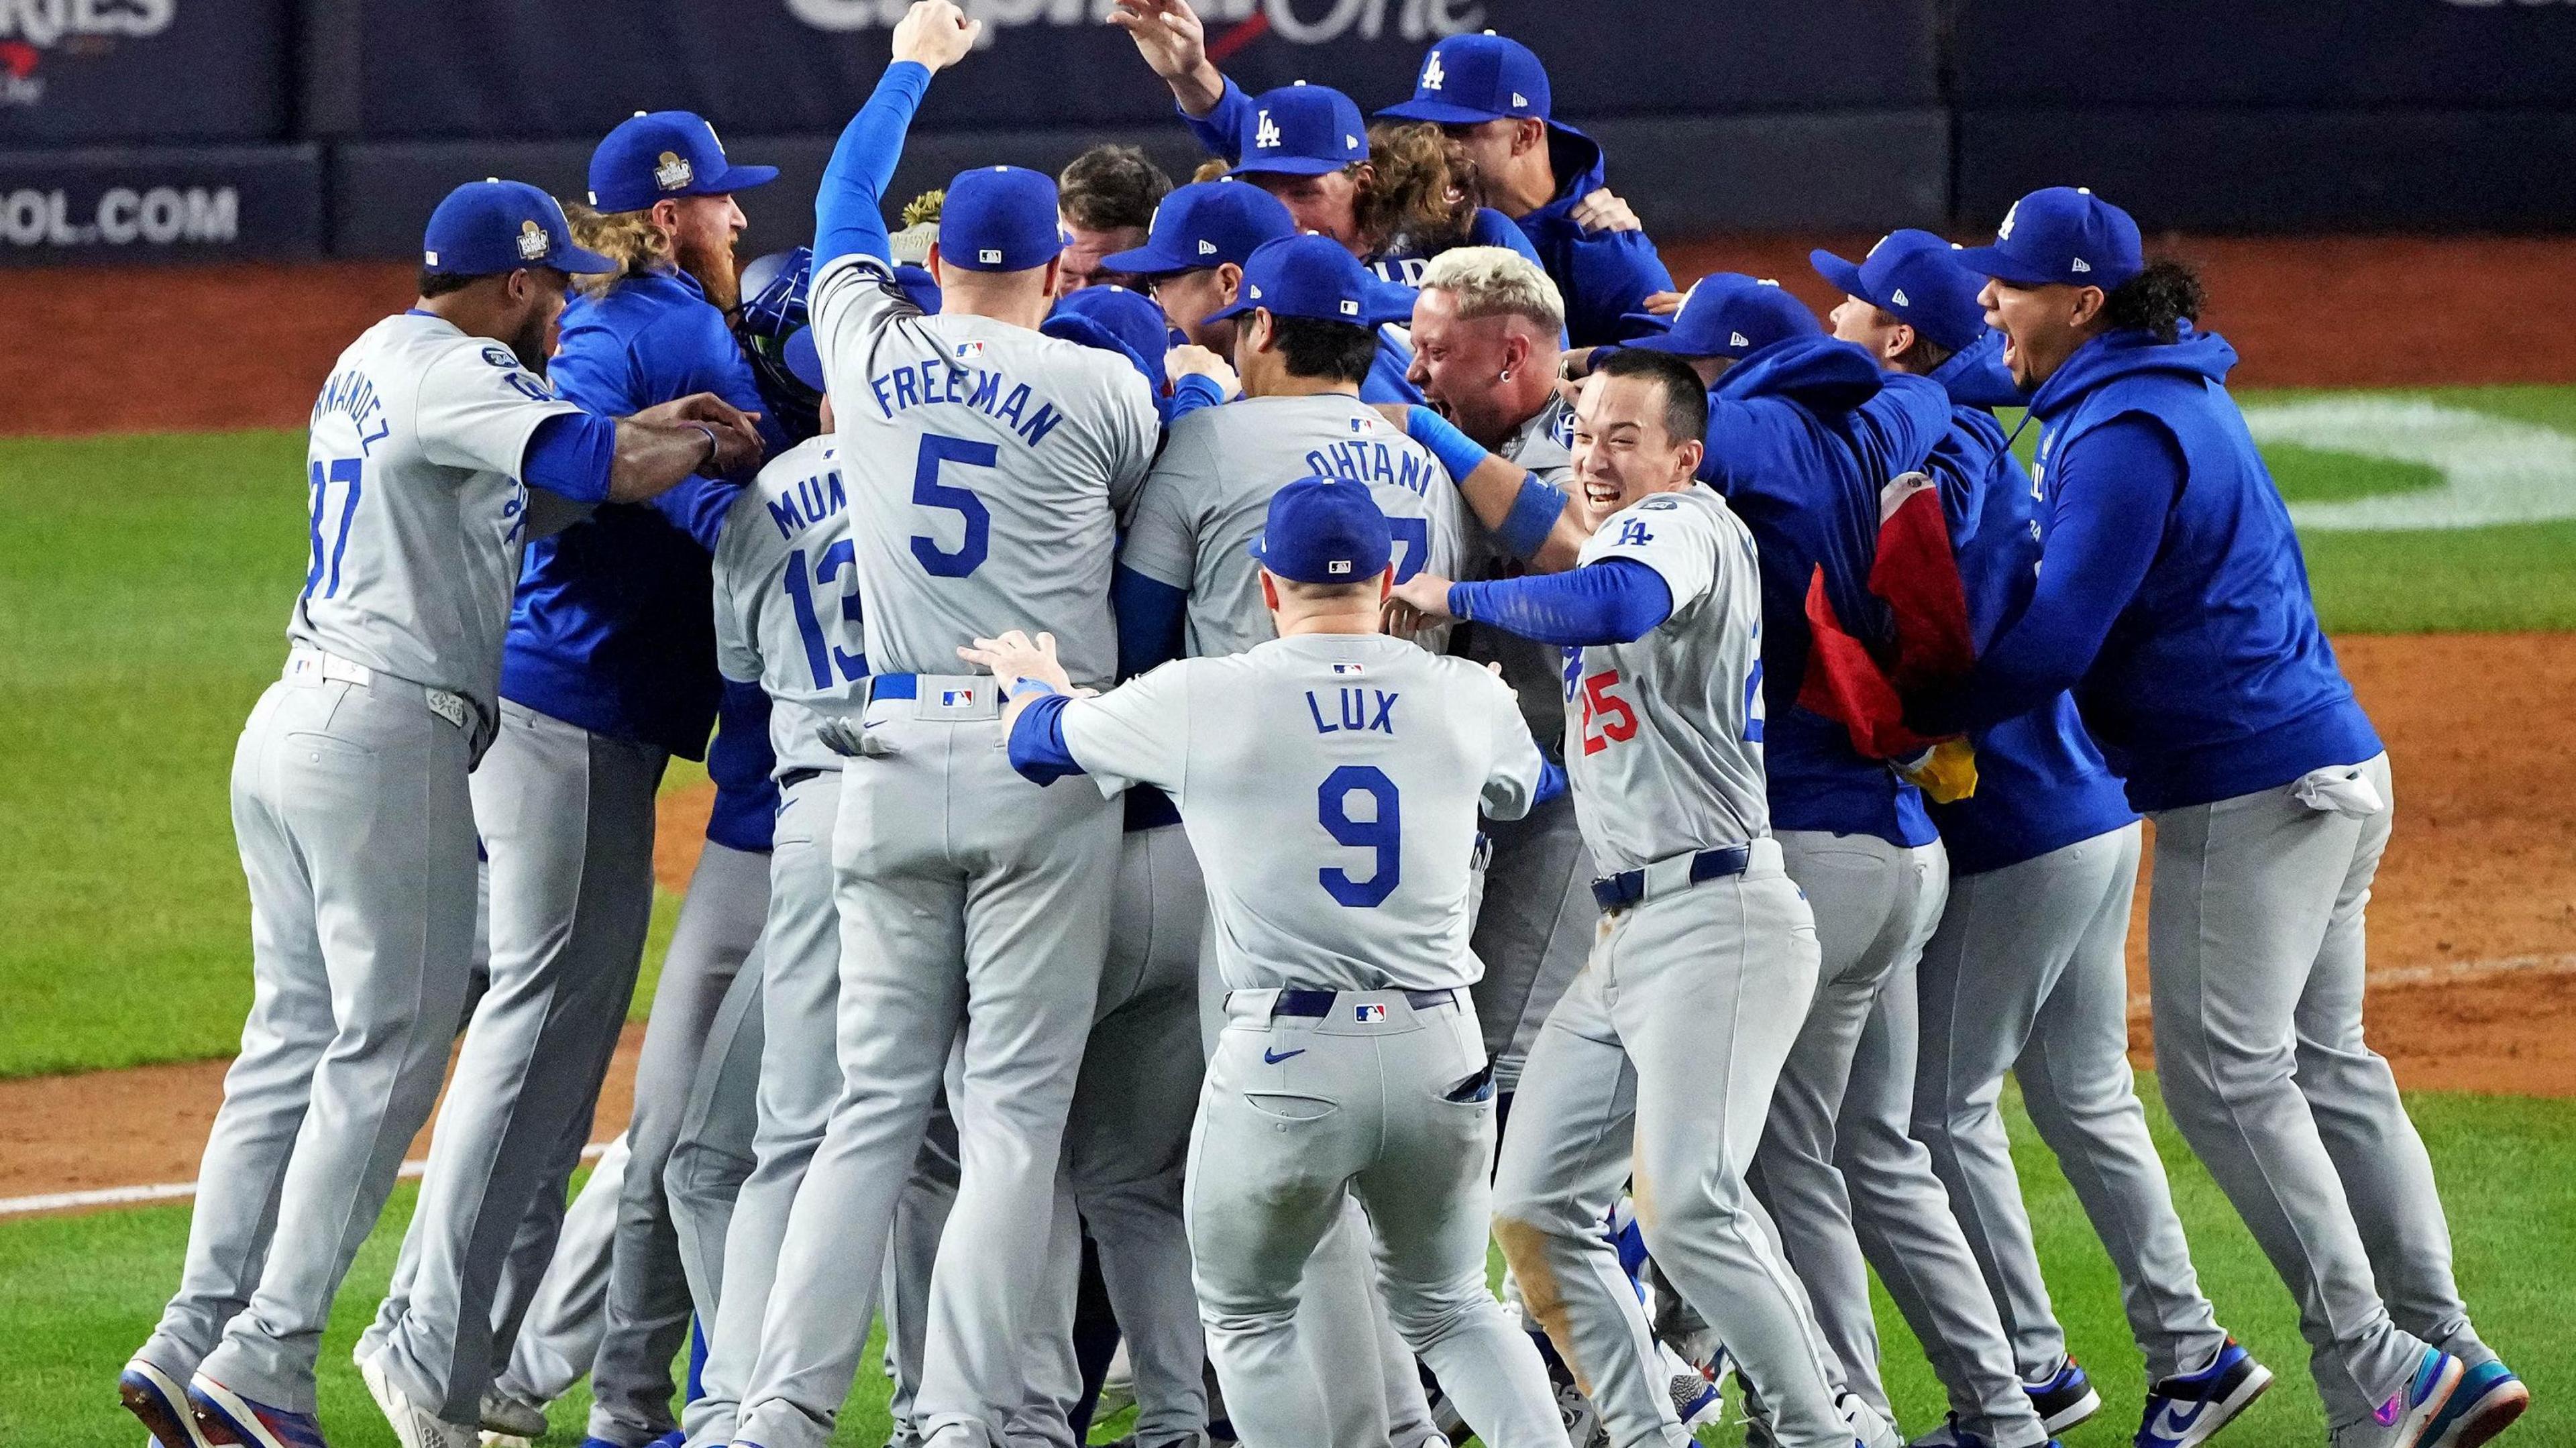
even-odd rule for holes
{"type": "Polygon", "coordinates": [[[1886,636],[1870,593],[1878,495],[1914,472],[1950,430],[1937,381],[1886,374],[1834,338],[1783,338],[1726,368],[1708,394],[1700,479],[1726,495],[1762,557],[1762,755],[1772,830],[1875,835],[1929,845],[1922,791],[1883,760],[1852,750],[1850,732],[1798,706],[1811,631],[1808,577],[1821,567],[1834,613],[1865,639],[1886,636]]]}

